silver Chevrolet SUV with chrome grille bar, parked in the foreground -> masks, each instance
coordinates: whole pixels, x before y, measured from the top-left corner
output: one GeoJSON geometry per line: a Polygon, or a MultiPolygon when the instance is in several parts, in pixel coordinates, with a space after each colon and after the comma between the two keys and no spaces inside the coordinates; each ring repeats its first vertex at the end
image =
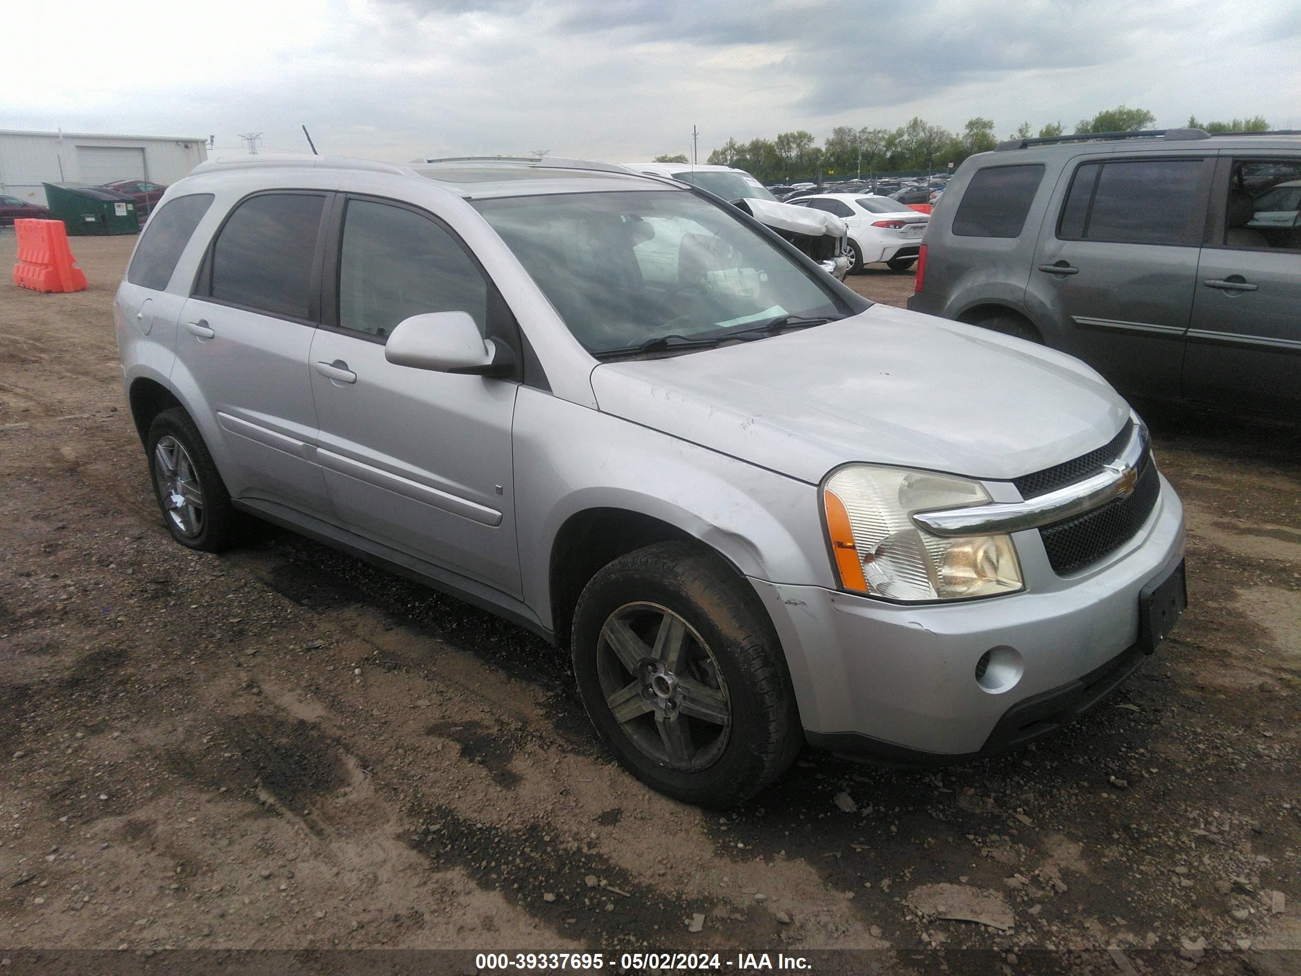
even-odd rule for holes
{"type": "Polygon", "coordinates": [[[872,305],[686,183],[206,163],[114,310],[178,543],[254,515],[570,648],[614,755],[691,803],[804,742],[1025,742],[1185,605],[1181,506],[1097,373],[872,305]]]}

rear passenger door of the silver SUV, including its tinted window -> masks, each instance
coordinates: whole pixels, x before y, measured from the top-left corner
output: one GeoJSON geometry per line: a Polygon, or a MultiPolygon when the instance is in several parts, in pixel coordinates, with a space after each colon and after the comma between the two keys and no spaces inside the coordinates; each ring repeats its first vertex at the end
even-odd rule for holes
{"type": "Polygon", "coordinates": [[[333,521],[314,459],[307,368],[328,199],[277,190],[235,204],[181,311],[173,384],[203,397],[206,431],[230,461],[221,474],[232,495],[333,521]],[[190,373],[183,384],[178,370],[190,373]]]}

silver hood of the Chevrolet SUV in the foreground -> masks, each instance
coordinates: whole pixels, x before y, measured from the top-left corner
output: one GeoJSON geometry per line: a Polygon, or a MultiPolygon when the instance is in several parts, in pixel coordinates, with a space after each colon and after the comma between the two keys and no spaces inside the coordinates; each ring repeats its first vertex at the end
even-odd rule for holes
{"type": "Polygon", "coordinates": [[[1106,444],[1128,405],[1062,353],[874,305],[840,321],[602,363],[604,413],[818,483],[866,461],[1006,480],[1106,444]]]}

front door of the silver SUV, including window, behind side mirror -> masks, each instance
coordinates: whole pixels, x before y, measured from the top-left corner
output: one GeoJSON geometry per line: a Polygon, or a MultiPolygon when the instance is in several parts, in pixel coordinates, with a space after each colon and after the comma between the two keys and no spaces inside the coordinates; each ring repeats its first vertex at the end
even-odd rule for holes
{"type": "Polygon", "coordinates": [[[507,316],[461,241],[431,215],[349,198],[332,306],[311,347],[317,459],[343,526],[520,595],[511,419],[514,380],[394,366],[403,319],[464,311],[480,331],[507,316]]]}

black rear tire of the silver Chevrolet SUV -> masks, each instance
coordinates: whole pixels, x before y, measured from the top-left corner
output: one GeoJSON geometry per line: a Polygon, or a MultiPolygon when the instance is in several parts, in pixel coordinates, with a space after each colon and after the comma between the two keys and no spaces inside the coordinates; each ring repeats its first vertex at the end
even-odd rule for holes
{"type": "MultiPolygon", "coordinates": [[[[150,483],[154,485],[154,497],[157,500],[159,510],[163,513],[163,523],[172,537],[189,549],[200,552],[224,552],[235,544],[239,535],[241,517],[230,504],[230,493],[225,481],[217,472],[217,466],[212,463],[212,454],[203,442],[194,420],[181,407],[164,410],[154,418],[150,424],[144,446],[150,463],[150,483]],[[159,445],[164,445],[160,453],[159,445]],[[176,452],[180,446],[183,452],[185,463],[176,462],[180,457],[176,452]],[[178,514],[181,509],[172,504],[176,495],[169,492],[167,485],[173,484],[173,476],[165,468],[164,457],[172,457],[176,470],[191,471],[193,476],[182,479],[186,485],[196,484],[198,497],[202,505],[190,505],[198,509],[198,518],[194,519],[194,531],[186,531],[186,517],[178,514]]],[[[185,496],[182,496],[185,497],[185,496]]]]}

